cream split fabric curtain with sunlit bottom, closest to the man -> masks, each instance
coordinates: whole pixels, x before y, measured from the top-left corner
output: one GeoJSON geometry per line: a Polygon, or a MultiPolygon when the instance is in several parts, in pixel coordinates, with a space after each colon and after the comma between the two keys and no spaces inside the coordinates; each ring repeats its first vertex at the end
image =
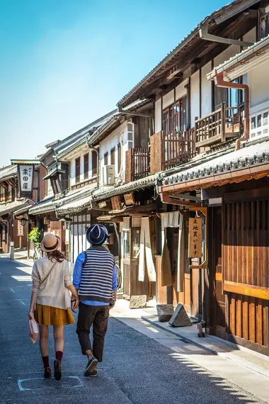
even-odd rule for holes
{"type": "Polygon", "coordinates": [[[140,254],[139,254],[139,267],[138,267],[138,280],[141,282],[144,281],[145,254],[146,254],[147,273],[149,275],[149,281],[156,282],[156,271],[151,252],[149,218],[142,218],[141,220],[140,254]]]}

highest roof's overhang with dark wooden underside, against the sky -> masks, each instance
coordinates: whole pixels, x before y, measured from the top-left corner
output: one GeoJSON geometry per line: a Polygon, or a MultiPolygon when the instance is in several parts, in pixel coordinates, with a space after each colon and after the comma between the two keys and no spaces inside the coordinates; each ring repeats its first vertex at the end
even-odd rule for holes
{"type": "MultiPolygon", "coordinates": [[[[222,9],[207,16],[147,76],[123,96],[118,101],[118,105],[127,106],[129,103],[141,98],[141,96],[148,96],[149,89],[160,91],[163,86],[173,82],[178,74],[182,74],[185,69],[188,69],[194,60],[204,57],[207,53],[212,55],[212,50],[218,46],[218,43],[212,42],[210,44],[207,40],[200,38],[199,30],[201,26],[207,25],[210,28],[210,35],[232,38],[231,24],[234,23],[234,33],[237,31],[237,38],[243,36],[255,25],[254,20],[256,20],[256,18],[253,18],[253,13],[248,12],[251,10],[247,9],[255,8],[259,1],[234,0],[227,6],[222,7],[222,9]],[[234,19],[232,20],[232,18],[234,19]],[[227,23],[228,20],[229,23],[227,23]],[[250,23],[250,21],[252,22],[250,23]],[[244,32],[244,29],[247,29],[246,32],[244,32]]],[[[224,50],[225,47],[223,48],[223,46],[227,45],[222,45],[224,50]]]]}

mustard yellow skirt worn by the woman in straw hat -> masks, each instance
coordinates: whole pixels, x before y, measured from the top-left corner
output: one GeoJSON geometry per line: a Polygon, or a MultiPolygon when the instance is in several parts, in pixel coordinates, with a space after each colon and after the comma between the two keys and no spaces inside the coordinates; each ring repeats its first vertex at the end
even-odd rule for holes
{"type": "Polygon", "coordinates": [[[50,307],[50,305],[36,305],[35,321],[40,325],[68,325],[74,324],[75,320],[71,310],[50,307]]]}

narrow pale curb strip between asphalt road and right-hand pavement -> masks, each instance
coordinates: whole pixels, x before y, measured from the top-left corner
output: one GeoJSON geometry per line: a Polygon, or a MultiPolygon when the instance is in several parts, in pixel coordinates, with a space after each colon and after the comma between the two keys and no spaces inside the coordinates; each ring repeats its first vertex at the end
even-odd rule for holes
{"type": "MultiPolygon", "coordinates": [[[[205,351],[210,352],[211,354],[217,355],[220,358],[227,359],[229,361],[234,361],[237,365],[244,367],[244,369],[251,370],[255,372],[256,374],[260,374],[262,376],[265,376],[266,378],[269,378],[269,371],[267,369],[263,369],[260,366],[256,364],[251,364],[251,362],[246,361],[245,359],[239,359],[235,357],[231,352],[219,352],[217,349],[210,348],[210,347],[205,347],[203,344],[200,344],[198,341],[193,341],[192,339],[188,337],[183,337],[181,335],[178,335],[176,332],[173,332],[173,329],[168,330],[166,327],[162,326],[160,323],[156,323],[150,318],[147,317],[142,317],[142,320],[149,322],[151,325],[155,325],[156,327],[161,328],[161,330],[165,330],[167,332],[170,332],[173,335],[176,335],[178,337],[178,340],[182,340],[183,342],[187,342],[193,345],[196,345],[199,348],[205,349],[205,351]]],[[[206,336],[206,338],[209,338],[206,336]]]]}

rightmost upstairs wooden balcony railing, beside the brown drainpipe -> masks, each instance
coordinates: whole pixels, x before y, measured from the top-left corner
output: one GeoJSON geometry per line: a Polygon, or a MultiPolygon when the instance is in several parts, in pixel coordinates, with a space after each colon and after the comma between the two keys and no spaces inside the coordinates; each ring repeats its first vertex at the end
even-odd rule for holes
{"type": "Polygon", "coordinates": [[[218,142],[226,142],[243,132],[244,106],[221,107],[207,116],[195,120],[196,147],[206,147],[218,142]]]}

